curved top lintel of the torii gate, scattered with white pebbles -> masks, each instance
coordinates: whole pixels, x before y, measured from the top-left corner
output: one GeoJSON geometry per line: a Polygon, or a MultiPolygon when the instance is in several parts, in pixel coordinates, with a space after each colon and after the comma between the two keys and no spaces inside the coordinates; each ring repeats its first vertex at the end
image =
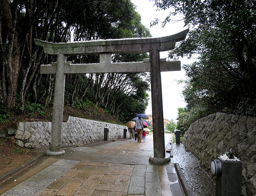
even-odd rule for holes
{"type": "Polygon", "coordinates": [[[189,29],[173,35],[159,38],[131,38],[115,40],[92,40],[82,42],[52,43],[34,39],[36,45],[44,47],[46,54],[100,54],[100,53],[141,53],[150,50],[168,51],[175,47],[175,43],[185,40],[189,29]]]}

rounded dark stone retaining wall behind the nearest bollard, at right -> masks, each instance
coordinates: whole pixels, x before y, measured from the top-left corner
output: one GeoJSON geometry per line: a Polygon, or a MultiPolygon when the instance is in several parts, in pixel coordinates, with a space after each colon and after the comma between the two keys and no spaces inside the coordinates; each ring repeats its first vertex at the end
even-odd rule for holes
{"type": "Polygon", "coordinates": [[[211,160],[232,148],[234,155],[243,163],[242,194],[256,195],[255,117],[211,114],[190,125],[183,143],[209,174],[211,160]]]}

